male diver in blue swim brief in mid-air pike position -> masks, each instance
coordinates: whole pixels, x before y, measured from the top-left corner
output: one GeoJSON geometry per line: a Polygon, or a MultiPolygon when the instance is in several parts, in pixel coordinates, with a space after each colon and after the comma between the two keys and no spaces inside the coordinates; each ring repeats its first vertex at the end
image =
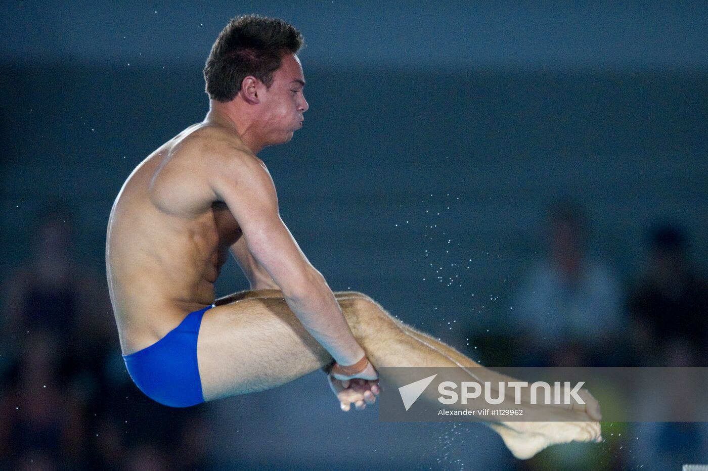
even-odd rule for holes
{"type": "MultiPolygon", "coordinates": [[[[113,205],[105,257],[120,346],[137,386],[164,405],[275,388],[325,368],[342,409],[364,409],[379,392],[375,366],[496,374],[362,293],[332,293],[280,219],[257,154],[302,127],[301,46],[284,21],[232,19],[204,69],[205,120],[142,161],[113,205]],[[229,251],[251,290],[215,300],[229,251]]],[[[599,440],[591,397],[585,409],[557,414],[565,421],[492,427],[519,458],[599,440]]]]}

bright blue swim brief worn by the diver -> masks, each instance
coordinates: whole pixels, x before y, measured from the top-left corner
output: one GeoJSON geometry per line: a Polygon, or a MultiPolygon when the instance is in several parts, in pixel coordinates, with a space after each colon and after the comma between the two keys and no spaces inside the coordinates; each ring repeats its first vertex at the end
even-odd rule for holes
{"type": "Polygon", "coordinates": [[[130,377],[147,397],[170,407],[204,402],[197,363],[197,337],[204,313],[195,310],[154,344],[123,355],[130,377]]]}

